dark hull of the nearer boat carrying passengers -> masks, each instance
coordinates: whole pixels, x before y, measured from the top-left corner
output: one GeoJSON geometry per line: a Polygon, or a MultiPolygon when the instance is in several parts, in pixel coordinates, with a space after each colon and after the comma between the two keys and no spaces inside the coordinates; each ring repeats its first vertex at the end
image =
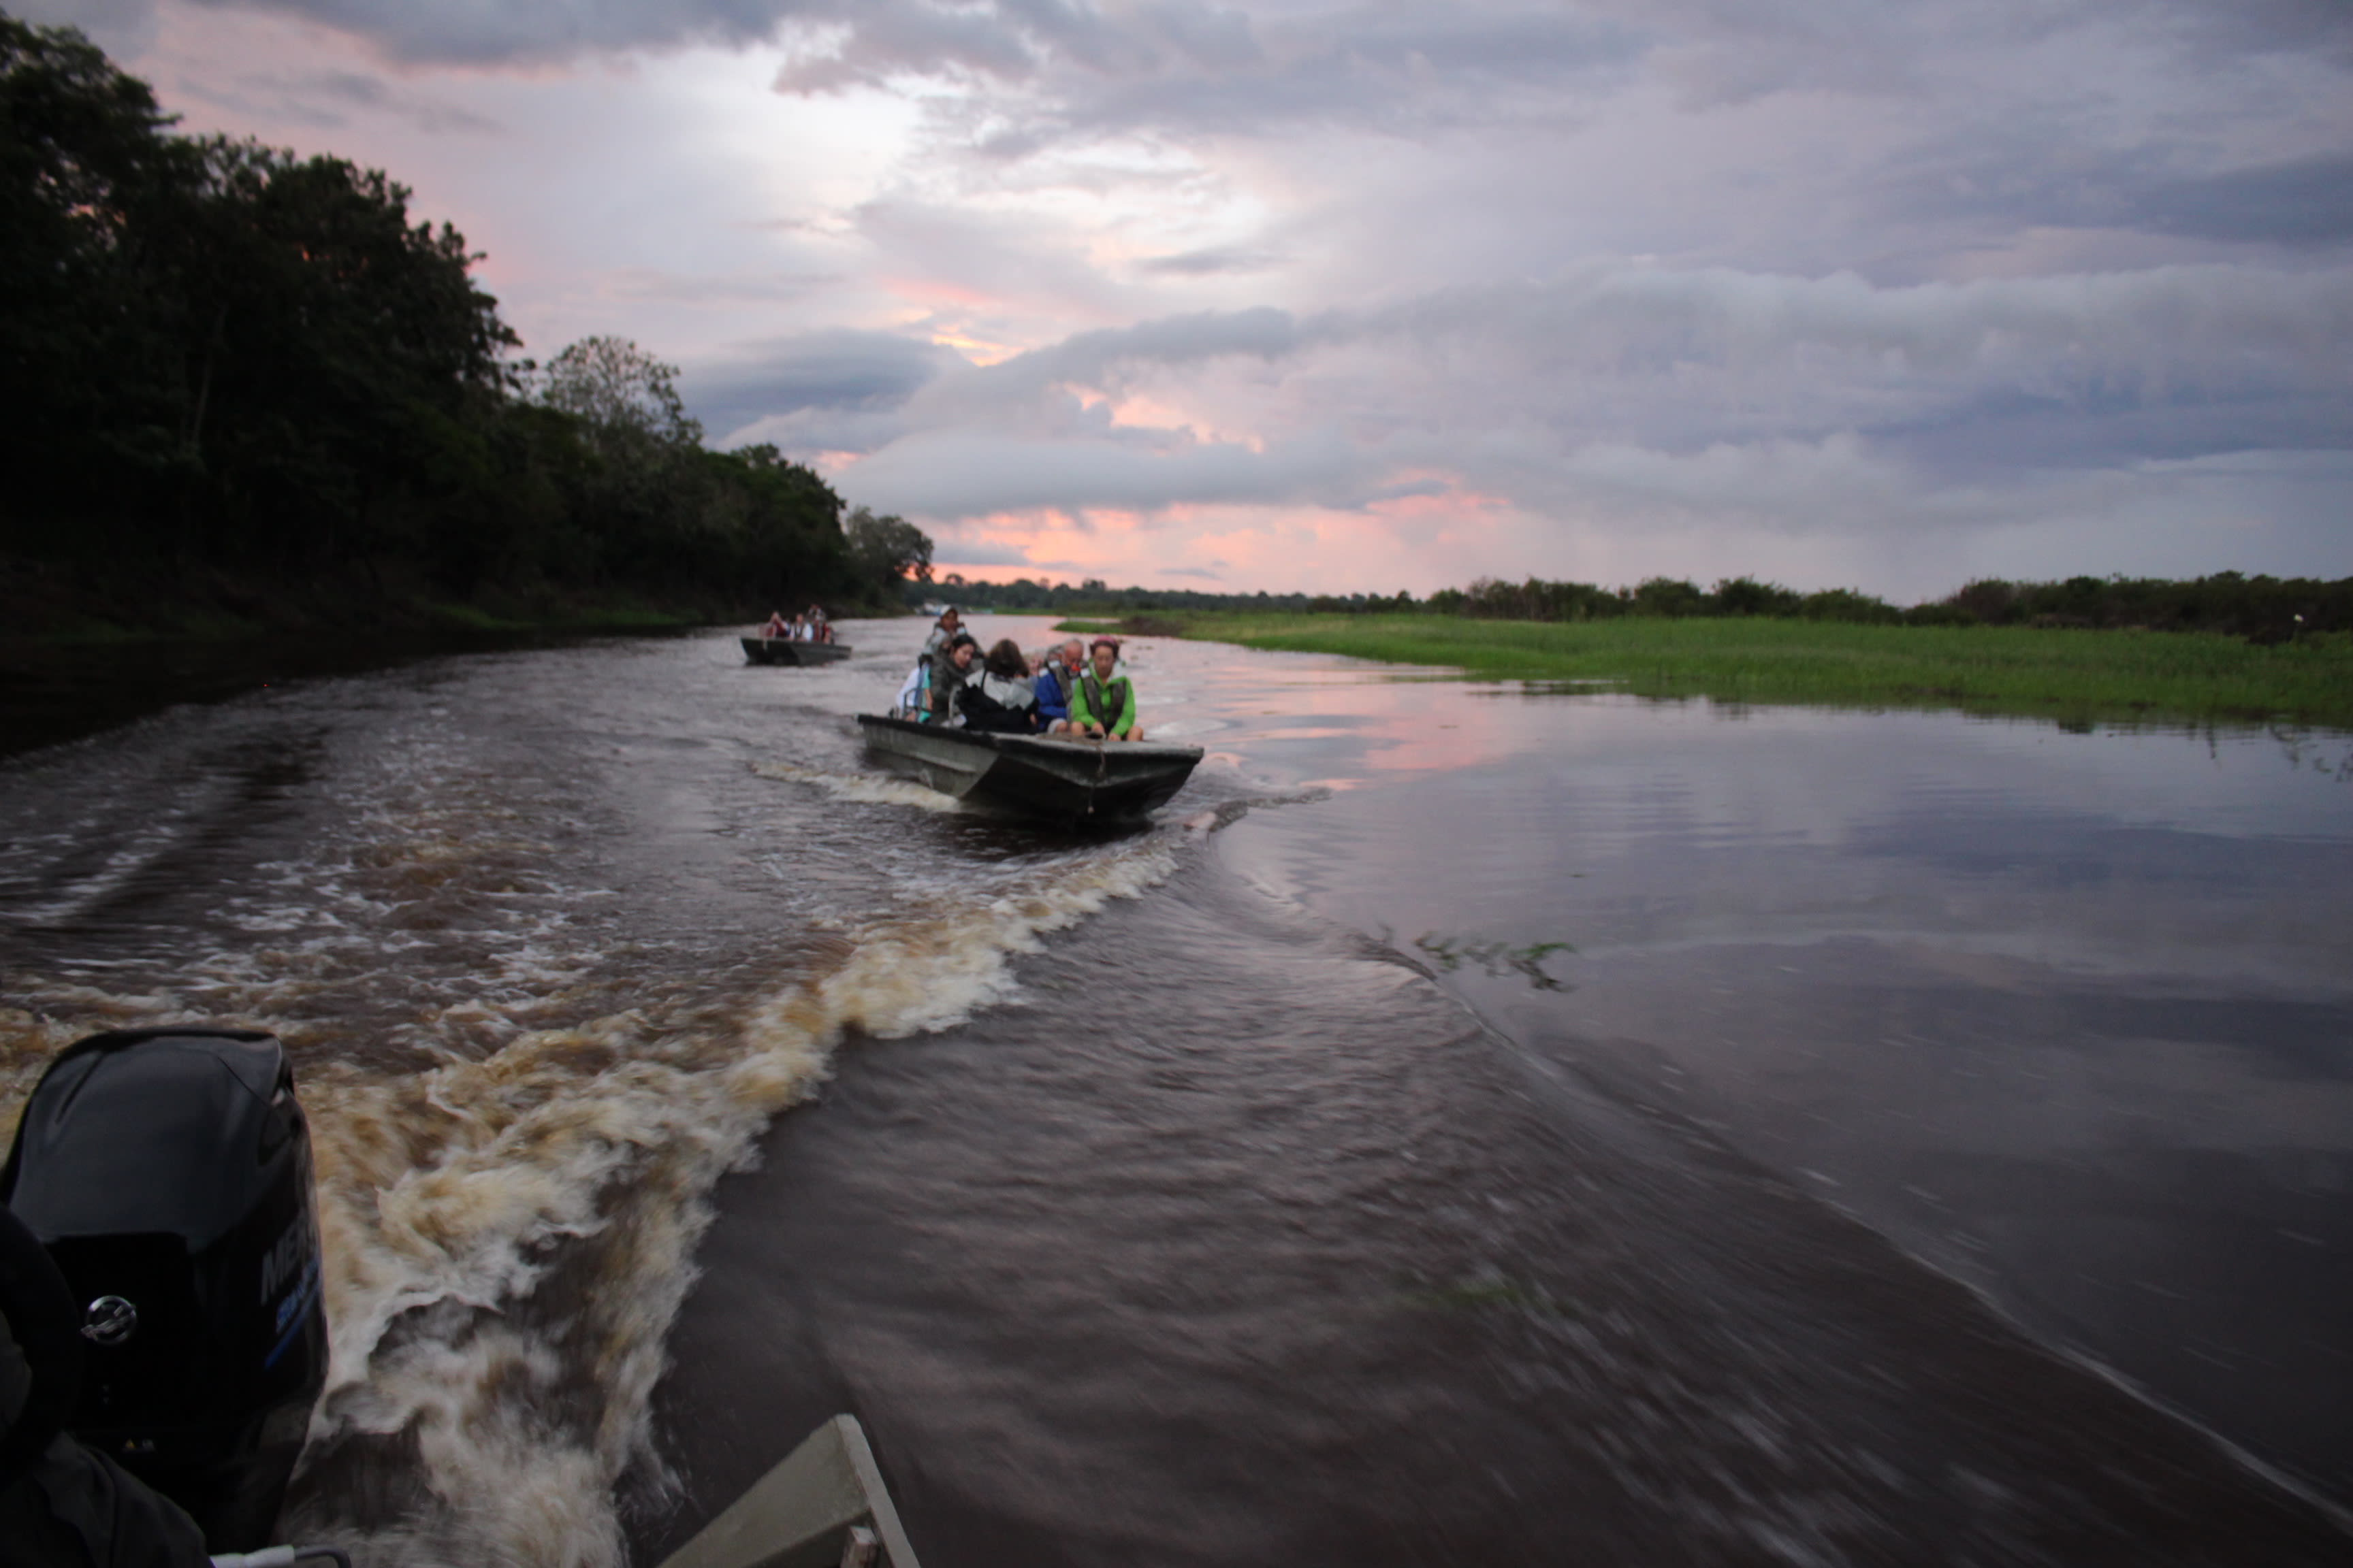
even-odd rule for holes
{"type": "Polygon", "coordinates": [[[991,736],[859,715],[866,750],[941,795],[1059,823],[1136,818],[1165,804],[1200,762],[1198,745],[991,736]]]}

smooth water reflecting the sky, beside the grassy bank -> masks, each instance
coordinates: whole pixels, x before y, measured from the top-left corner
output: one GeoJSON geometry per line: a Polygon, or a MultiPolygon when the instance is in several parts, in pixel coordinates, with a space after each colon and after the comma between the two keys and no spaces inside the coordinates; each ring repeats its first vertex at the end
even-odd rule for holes
{"type": "Polygon", "coordinates": [[[2353,1493],[2353,795],[2313,738],[1478,705],[1520,755],[1228,856],[1475,933],[1431,971],[1513,1039],[2353,1493]],[[1445,961],[1529,938],[1562,990],[1445,961]]]}

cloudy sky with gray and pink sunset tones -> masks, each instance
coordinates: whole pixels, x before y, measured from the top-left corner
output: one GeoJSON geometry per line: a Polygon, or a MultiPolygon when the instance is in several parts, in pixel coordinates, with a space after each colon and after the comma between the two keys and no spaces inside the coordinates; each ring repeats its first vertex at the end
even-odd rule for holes
{"type": "Polygon", "coordinates": [[[967,576],[2353,574],[2346,0],[9,0],[967,576]]]}

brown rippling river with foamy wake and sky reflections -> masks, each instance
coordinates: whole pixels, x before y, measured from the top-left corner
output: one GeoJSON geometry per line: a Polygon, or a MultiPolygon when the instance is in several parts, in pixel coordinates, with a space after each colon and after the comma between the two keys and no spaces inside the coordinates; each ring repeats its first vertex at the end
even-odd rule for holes
{"type": "Polygon", "coordinates": [[[1066,837],[861,757],[920,632],[0,762],[7,1114],[294,1053],[301,1533],[652,1563],[847,1408],[934,1568],[2353,1561],[2346,736],[1144,639],[1066,837]]]}

